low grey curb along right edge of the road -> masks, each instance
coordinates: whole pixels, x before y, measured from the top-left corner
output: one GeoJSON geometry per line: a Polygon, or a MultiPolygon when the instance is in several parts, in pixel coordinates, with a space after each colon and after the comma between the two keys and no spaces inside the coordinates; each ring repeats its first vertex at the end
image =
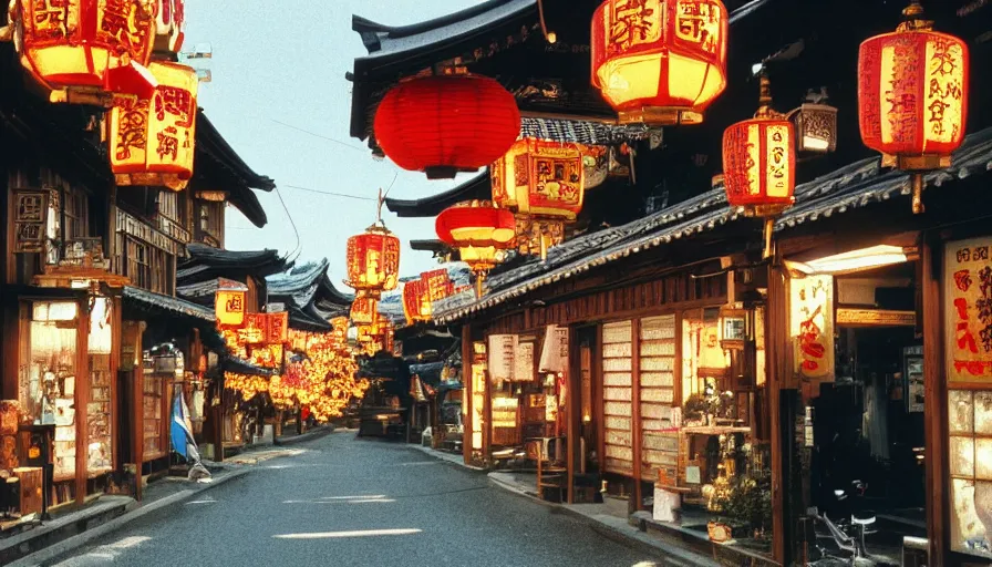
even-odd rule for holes
{"type": "MultiPolygon", "coordinates": [[[[619,522],[623,522],[623,527],[612,526],[604,522],[598,520],[592,516],[588,516],[582,514],[581,512],[571,509],[567,506],[562,506],[560,504],[556,504],[552,502],[546,502],[537,497],[536,494],[529,493],[527,491],[523,491],[516,486],[507,484],[503,481],[494,478],[492,476],[488,477],[489,482],[495,486],[507,491],[509,493],[516,494],[517,496],[527,498],[536,504],[540,504],[542,506],[547,506],[551,511],[560,514],[568,514],[569,516],[581,520],[583,524],[588,525],[593,532],[597,534],[610,539],[611,542],[616,542],[621,545],[626,545],[628,547],[638,549],[642,553],[649,554],[653,557],[657,557],[661,563],[659,566],[672,566],[672,567],[699,567],[699,566],[716,566],[720,564],[711,559],[710,557],[699,555],[694,551],[690,551],[683,549],[681,547],[668,545],[663,542],[655,540],[654,538],[648,536],[647,534],[641,534],[640,532],[630,532],[627,529],[629,527],[627,523],[620,518],[619,522]]],[[[630,528],[636,529],[636,528],[630,528]]]]}

